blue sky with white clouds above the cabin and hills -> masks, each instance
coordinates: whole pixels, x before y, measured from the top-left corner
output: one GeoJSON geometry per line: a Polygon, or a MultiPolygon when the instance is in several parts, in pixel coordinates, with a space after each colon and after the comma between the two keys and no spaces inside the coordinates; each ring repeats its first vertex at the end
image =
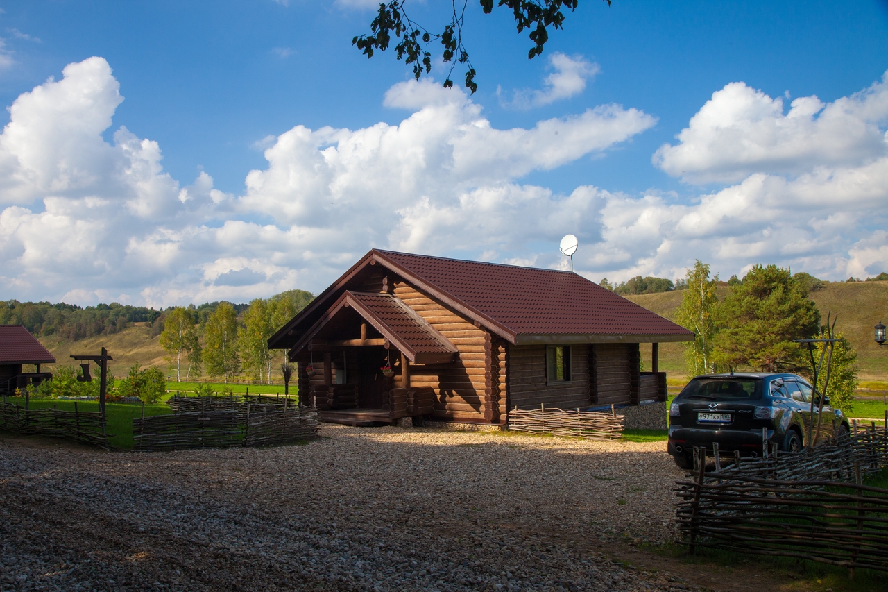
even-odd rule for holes
{"type": "MultiPolygon", "coordinates": [[[[471,99],[408,82],[390,52],[361,56],[351,38],[373,4],[0,3],[0,100],[29,114],[3,121],[4,158],[18,163],[0,166],[5,297],[170,305],[318,291],[371,246],[557,267],[567,232],[595,281],[674,278],[694,259],[723,276],[755,262],[828,279],[888,268],[888,3],[583,2],[535,60],[507,12],[470,3],[471,99]],[[62,74],[91,57],[106,65],[62,74]],[[36,87],[45,100],[23,94],[36,87]],[[821,107],[803,105],[797,125],[790,104],[814,95],[821,107]],[[536,154],[512,149],[515,131],[553,118],[575,144],[527,133],[536,154]],[[472,136],[481,120],[503,133],[472,136]],[[299,125],[314,132],[307,148],[287,143],[299,125]],[[129,140],[115,140],[121,126],[129,140]],[[147,149],[139,166],[127,141],[147,149]],[[382,142],[375,156],[345,156],[368,141],[382,142]],[[485,171],[430,156],[454,147],[489,157],[485,171]],[[316,157],[329,171],[308,165],[316,157]],[[47,228],[58,238],[38,240],[47,228]]],[[[408,6],[430,28],[447,16],[448,3],[408,6]]]]}

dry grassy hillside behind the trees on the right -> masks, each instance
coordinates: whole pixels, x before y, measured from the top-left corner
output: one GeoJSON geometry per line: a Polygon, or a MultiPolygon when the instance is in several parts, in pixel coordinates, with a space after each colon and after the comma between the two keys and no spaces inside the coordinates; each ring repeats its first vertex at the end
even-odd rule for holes
{"type": "MultiPolygon", "coordinates": [[[[723,300],[728,288],[721,287],[718,299],[723,300]]],[[[685,292],[661,292],[627,296],[629,300],[672,320],[685,292]]],[[[888,282],[830,283],[811,293],[826,323],[827,313],[838,316],[836,331],[851,341],[857,351],[860,380],[885,380],[888,378],[888,345],[879,346],[873,340],[873,326],[880,320],[888,320],[888,282]]],[[[686,374],[684,344],[660,345],[661,370],[673,375],[686,374]]],[[[642,346],[642,359],[650,368],[650,348],[642,346]]]]}

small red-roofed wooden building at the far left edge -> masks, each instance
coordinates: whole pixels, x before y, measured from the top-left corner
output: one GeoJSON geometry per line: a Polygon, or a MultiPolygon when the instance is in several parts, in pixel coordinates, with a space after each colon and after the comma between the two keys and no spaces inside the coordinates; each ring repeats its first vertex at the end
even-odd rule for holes
{"type": "Polygon", "coordinates": [[[0,324],[0,393],[12,395],[16,388],[51,380],[52,372],[40,372],[40,364],[55,364],[43,344],[23,325],[0,324]],[[35,364],[36,372],[21,372],[24,364],[35,364]]]}

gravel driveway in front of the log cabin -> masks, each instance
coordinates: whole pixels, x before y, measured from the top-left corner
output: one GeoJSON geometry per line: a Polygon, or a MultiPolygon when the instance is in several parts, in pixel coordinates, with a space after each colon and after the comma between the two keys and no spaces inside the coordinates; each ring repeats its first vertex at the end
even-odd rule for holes
{"type": "Polygon", "coordinates": [[[0,589],[667,590],[666,443],[324,425],[301,446],[0,441],[0,589]]]}

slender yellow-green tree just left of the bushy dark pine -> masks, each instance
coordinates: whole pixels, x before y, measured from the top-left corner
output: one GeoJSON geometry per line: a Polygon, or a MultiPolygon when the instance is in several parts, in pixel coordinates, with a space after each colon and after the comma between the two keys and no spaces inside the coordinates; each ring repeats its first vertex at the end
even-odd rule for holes
{"type": "Polygon", "coordinates": [[[694,332],[694,341],[687,345],[685,359],[694,374],[715,372],[712,361],[712,340],[718,331],[714,312],[718,307],[716,286],[718,275],[710,279],[710,266],[697,260],[686,276],[687,291],[681,299],[676,320],[694,332]]]}

